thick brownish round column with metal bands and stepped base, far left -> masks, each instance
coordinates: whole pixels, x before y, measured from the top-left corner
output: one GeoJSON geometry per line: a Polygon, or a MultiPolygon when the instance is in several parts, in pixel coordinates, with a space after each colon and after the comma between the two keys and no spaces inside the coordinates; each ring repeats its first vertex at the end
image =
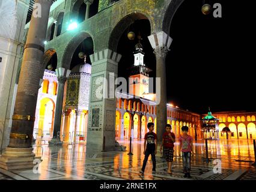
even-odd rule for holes
{"type": "Polygon", "coordinates": [[[31,143],[44,40],[52,1],[36,0],[35,3],[41,4],[41,17],[31,18],[17,88],[10,143],[0,158],[0,167],[7,170],[30,169],[35,166],[31,143]]]}

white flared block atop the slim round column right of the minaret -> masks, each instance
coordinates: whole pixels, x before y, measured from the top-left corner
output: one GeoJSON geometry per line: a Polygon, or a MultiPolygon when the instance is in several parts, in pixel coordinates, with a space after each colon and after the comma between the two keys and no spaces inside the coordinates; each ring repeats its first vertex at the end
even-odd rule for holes
{"type": "Polygon", "coordinates": [[[172,38],[163,31],[148,36],[148,40],[153,49],[156,49],[156,47],[166,47],[169,49],[172,43],[172,38]]]}

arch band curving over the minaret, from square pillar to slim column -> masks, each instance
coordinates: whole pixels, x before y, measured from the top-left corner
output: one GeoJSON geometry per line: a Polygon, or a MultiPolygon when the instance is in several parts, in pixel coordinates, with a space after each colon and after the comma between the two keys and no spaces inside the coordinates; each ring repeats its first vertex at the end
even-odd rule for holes
{"type": "Polygon", "coordinates": [[[153,19],[151,16],[145,13],[140,13],[139,11],[134,11],[131,14],[127,14],[123,19],[119,20],[111,31],[108,47],[109,49],[117,52],[118,42],[120,41],[121,36],[126,31],[126,29],[134,23],[136,20],[147,19],[150,22],[150,28],[152,32],[153,19]]]}

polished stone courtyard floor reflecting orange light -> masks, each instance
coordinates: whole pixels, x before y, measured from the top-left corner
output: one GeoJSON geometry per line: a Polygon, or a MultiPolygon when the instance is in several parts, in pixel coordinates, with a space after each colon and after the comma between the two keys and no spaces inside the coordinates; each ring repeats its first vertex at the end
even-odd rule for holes
{"type": "MultiPolygon", "coordinates": [[[[129,141],[118,141],[127,146],[129,141]]],[[[207,163],[204,140],[194,143],[192,157],[192,180],[256,180],[256,169],[251,165],[254,161],[254,147],[252,140],[209,140],[209,158],[207,163]],[[214,160],[221,160],[221,173],[214,173],[214,160]]],[[[101,152],[90,151],[85,145],[63,145],[62,147],[35,144],[34,152],[41,156],[39,172],[34,170],[17,170],[8,172],[0,169],[0,179],[19,180],[62,180],[62,179],[145,179],[145,180],[182,180],[183,166],[181,157],[177,153],[178,143],[175,143],[174,163],[172,175],[167,173],[166,162],[157,150],[156,174],[151,173],[152,163],[149,158],[144,175],[139,173],[144,159],[143,141],[133,140],[133,155],[128,151],[101,152]]]]}

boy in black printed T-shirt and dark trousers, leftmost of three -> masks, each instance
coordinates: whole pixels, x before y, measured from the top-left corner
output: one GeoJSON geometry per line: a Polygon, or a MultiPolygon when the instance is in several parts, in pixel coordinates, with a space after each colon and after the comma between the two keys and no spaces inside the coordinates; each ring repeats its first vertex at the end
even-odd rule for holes
{"type": "Polygon", "coordinates": [[[157,136],[156,133],[153,132],[154,130],[154,124],[153,122],[149,122],[148,125],[148,133],[145,134],[144,137],[144,161],[142,165],[142,169],[139,173],[144,174],[145,167],[148,161],[149,155],[151,155],[151,159],[153,162],[153,169],[152,173],[156,173],[156,149],[157,149],[157,136]],[[147,143],[147,146],[146,146],[147,143]]]}

